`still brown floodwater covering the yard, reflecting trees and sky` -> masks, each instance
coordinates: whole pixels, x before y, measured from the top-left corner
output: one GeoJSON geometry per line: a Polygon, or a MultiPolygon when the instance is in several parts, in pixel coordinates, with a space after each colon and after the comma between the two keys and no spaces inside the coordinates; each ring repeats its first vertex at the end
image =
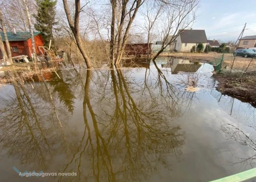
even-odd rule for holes
{"type": "Polygon", "coordinates": [[[210,64],[157,66],[2,87],[1,181],[210,181],[254,167],[255,107],[217,92],[210,64]]]}

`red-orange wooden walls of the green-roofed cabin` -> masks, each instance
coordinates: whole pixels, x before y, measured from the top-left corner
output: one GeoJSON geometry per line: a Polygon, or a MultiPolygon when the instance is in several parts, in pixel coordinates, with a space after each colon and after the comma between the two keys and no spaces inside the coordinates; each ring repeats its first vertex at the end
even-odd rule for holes
{"type": "MultiPolygon", "coordinates": [[[[31,40],[31,38],[29,38],[26,41],[11,41],[9,43],[10,43],[10,47],[17,46],[18,49],[19,49],[19,53],[13,53],[13,50],[11,50],[11,56],[12,57],[20,56],[20,55],[27,55],[29,58],[31,58],[31,54],[30,54],[30,51],[32,53],[32,40],[31,40]]],[[[43,44],[44,44],[43,37],[42,37],[41,34],[34,36],[34,43],[36,45],[36,53],[37,53],[37,55],[40,55],[38,46],[43,46],[43,44]]],[[[7,48],[6,48],[5,43],[4,43],[4,46],[5,46],[5,51],[7,53],[7,48]]],[[[0,59],[3,59],[2,54],[0,54],[0,59]]]]}

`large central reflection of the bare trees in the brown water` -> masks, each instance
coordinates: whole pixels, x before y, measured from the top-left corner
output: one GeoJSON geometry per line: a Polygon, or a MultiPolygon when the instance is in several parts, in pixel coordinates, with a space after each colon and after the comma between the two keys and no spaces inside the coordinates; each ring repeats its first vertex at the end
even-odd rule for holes
{"type": "Polygon", "coordinates": [[[140,94],[141,87],[131,83],[121,69],[109,72],[111,79],[98,76],[103,84],[95,84],[92,74],[106,72],[87,70],[85,132],[63,172],[77,172],[76,180],[146,180],[158,168],[169,169],[167,157],[181,155],[184,136],[170,122],[176,112],[167,112],[159,93],[151,91],[152,85],[140,94]]]}

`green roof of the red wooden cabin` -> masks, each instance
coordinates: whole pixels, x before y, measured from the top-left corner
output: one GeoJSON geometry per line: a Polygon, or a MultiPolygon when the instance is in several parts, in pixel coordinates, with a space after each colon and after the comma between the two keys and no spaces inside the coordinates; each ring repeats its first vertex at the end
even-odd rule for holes
{"type": "MultiPolygon", "coordinates": [[[[2,36],[2,41],[4,42],[3,32],[0,32],[0,34],[2,36]]],[[[34,36],[38,34],[40,34],[40,32],[34,32],[34,36]]],[[[8,41],[26,41],[31,38],[31,36],[30,32],[16,32],[16,34],[14,34],[13,32],[7,32],[7,38],[8,41]]]]}

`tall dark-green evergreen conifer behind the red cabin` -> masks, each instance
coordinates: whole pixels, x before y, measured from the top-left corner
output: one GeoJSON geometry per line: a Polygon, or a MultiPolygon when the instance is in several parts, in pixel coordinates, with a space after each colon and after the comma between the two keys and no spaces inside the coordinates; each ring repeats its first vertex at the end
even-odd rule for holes
{"type": "Polygon", "coordinates": [[[48,46],[50,40],[54,47],[53,39],[53,26],[57,24],[55,21],[55,9],[56,9],[55,0],[37,0],[38,12],[37,15],[34,15],[36,19],[36,24],[34,28],[41,32],[44,38],[45,44],[48,46]]]}

